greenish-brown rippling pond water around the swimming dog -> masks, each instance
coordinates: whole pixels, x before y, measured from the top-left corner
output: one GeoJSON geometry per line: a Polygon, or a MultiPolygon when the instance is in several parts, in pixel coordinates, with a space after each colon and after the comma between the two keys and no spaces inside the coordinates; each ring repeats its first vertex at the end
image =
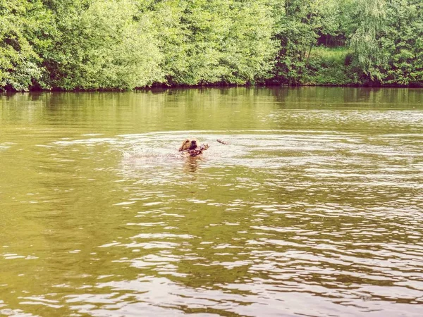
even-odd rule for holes
{"type": "Polygon", "coordinates": [[[0,97],[0,315],[422,316],[422,237],[423,90],[0,97]]]}

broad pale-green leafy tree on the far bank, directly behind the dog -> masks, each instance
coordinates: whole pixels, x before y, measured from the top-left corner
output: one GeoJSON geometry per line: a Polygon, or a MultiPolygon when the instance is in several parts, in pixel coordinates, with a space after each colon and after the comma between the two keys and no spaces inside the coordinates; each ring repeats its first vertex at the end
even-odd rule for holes
{"type": "Polygon", "coordinates": [[[169,85],[254,83],[276,51],[266,1],[166,1],[155,6],[169,85]]]}

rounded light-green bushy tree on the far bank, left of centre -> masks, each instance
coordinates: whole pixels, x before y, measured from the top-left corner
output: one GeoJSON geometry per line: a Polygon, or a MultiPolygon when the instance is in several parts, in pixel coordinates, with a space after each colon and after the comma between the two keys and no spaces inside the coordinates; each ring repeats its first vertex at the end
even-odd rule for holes
{"type": "Polygon", "coordinates": [[[130,0],[57,8],[61,37],[46,56],[51,87],[133,89],[162,78],[149,15],[130,0]]]}

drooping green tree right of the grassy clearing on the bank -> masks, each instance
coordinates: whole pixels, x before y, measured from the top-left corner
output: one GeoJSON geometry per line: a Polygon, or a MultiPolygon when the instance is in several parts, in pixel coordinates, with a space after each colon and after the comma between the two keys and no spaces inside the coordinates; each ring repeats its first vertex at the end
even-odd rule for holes
{"type": "Polygon", "coordinates": [[[359,24],[351,37],[362,82],[422,85],[423,1],[357,0],[359,24]]]}

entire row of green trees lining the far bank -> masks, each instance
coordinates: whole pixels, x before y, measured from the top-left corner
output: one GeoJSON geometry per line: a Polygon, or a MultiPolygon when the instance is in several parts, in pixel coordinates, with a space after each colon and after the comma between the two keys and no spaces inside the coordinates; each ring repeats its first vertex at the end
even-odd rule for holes
{"type": "Polygon", "coordinates": [[[0,89],[423,85],[423,0],[0,0],[0,89]]]}

